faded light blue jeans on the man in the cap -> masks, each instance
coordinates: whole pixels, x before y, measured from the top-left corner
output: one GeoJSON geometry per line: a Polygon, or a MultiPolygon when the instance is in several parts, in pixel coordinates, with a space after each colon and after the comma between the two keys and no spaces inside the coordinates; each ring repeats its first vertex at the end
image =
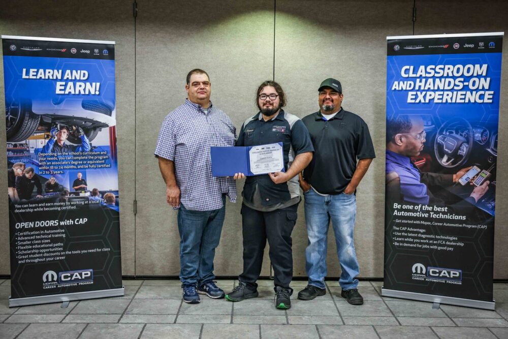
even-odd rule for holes
{"type": "Polygon", "coordinates": [[[321,196],[310,189],[304,194],[304,198],[305,222],[309,239],[305,250],[305,269],[309,277],[309,285],[325,288],[328,226],[331,220],[337,256],[342,269],[339,279],[340,287],[343,290],[357,288],[356,276],[360,273],[360,267],[353,241],[356,217],[355,194],[321,196]]]}

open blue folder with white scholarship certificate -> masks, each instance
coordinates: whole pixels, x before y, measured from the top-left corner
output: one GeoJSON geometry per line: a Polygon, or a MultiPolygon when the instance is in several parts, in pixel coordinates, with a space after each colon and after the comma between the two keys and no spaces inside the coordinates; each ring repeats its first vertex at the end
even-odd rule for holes
{"type": "Polygon", "coordinates": [[[261,175],[284,171],[282,143],[258,146],[210,147],[213,176],[235,173],[261,175]]]}

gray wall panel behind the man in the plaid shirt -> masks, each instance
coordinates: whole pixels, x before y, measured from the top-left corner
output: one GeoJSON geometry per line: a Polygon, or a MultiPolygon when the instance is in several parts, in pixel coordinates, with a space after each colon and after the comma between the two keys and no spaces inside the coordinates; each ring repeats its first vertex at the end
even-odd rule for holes
{"type": "MultiPolygon", "coordinates": [[[[255,90],[272,78],[273,2],[138,4],[136,273],[178,275],[177,212],[166,203],[153,157],[158,130],[186,98],[185,76],[193,68],[208,72],[211,101],[232,118],[238,131],[256,113],[255,90]]],[[[242,185],[238,182],[239,194],[242,185]]],[[[240,203],[226,208],[215,273],[236,275],[242,270],[240,203]]],[[[262,274],[269,274],[267,256],[262,274]]]]}

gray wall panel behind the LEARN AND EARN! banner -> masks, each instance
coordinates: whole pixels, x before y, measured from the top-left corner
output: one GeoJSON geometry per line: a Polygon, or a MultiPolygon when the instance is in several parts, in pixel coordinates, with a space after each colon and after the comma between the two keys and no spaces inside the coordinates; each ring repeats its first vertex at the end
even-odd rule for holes
{"type": "MultiPolygon", "coordinates": [[[[4,35],[116,41],[116,115],[122,273],[134,274],[134,17],[132,4],[121,0],[23,1],[6,2],[0,11],[0,32],[4,35]]],[[[0,102],[4,107],[3,67],[0,79],[0,102]]],[[[5,131],[5,120],[0,119],[5,131]]],[[[0,133],[5,145],[5,132],[0,133]]],[[[6,152],[0,151],[0,163],[6,164],[6,152]]],[[[0,175],[0,190],[6,192],[7,180],[0,175]]],[[[0,200],[0,215],[8,215],[6,199],[0,200]]],[[[7,218],[2,218],[0,232],[9,233],[7,218]]],[[[0,274],[10,274],[8,237],[0,237],[0,274]]]]}

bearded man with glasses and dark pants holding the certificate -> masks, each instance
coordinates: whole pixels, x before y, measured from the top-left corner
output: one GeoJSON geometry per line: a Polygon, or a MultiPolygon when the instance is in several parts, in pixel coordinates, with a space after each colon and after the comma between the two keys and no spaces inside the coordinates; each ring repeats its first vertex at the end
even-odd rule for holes
{"type": "MultiPolygon", "coordinates": [[[[266,240],[275,271],[275,307],[289,309],[293,289],[291,232],[296,223],[300,189],[298,177],[312,159],[312,143],[302,120],[282,110],[284,92],[274,81],[263,82],[256,93],[260,112],[242,125],[237,146],[282,142],[285,172],[249,176],[243,187],[243,273],[239,285],[226,299],[241,301],[258,296],[256,281],[261,273],[266,240]]],[[[237,173],[235,179],[244,177],[237,173]]]]}

